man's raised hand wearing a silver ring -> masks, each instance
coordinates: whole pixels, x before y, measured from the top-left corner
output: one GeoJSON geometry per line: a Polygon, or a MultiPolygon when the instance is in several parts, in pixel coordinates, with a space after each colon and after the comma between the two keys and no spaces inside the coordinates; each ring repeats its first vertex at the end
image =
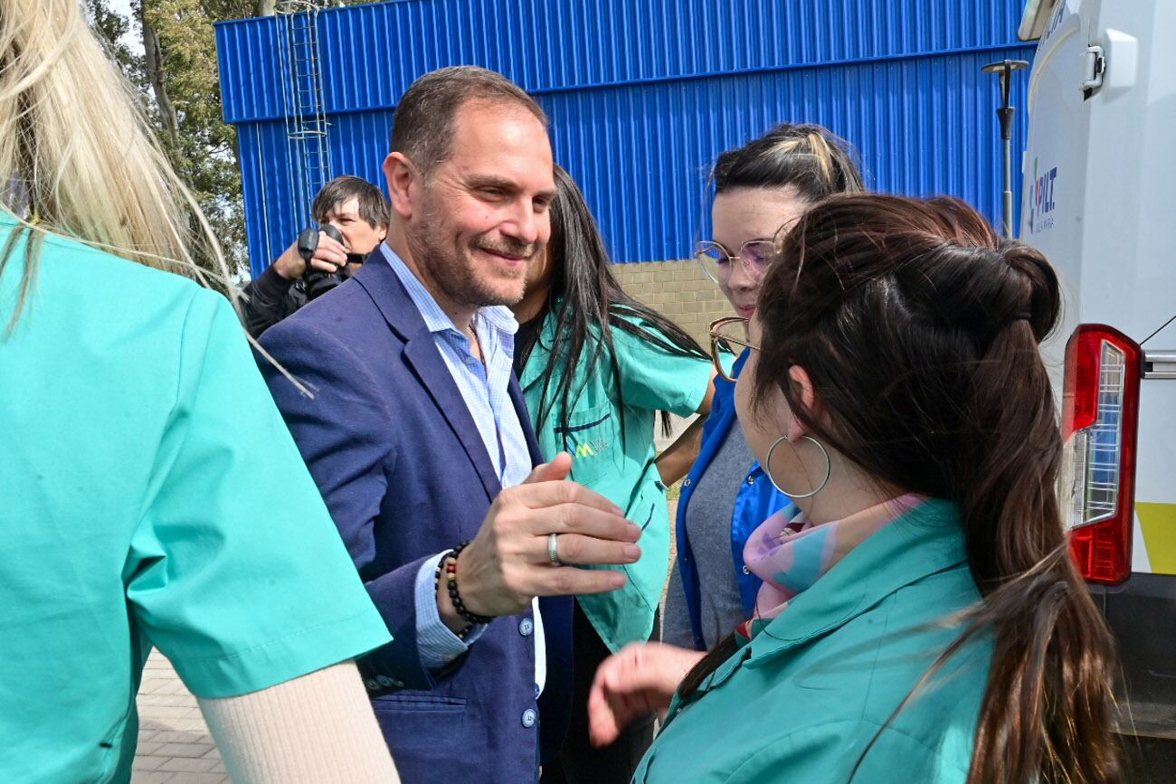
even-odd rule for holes
{"type": "MultiPolygon", "coordinates": [[[[499,494],[474,541],[457,558],[457,588],[475,615],[522,612],[535,596],[602,594],[624,585],[612,569],[570,564],[626,564],[641,557],[635,542],[641,529],[597,492],[566,482],[572,456],[560,453],[532,471],[522,484],[499,494]],[[548,535],[559,534],[559,557],[552,564],[548,535]]],[[[446,582],[437,587],[437,608],[450,629],[466,622],[449,601],[446,582]]]]}

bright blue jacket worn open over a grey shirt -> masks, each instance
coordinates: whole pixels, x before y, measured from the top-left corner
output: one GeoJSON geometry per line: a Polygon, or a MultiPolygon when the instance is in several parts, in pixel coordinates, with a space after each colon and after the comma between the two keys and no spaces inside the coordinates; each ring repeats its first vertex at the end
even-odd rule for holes
{"type": "MultiPolygon", "coordinates": [[[[747,362],[747,355],[748,350],[744,349],[735,360],[735,364],[731,366],[731,374],[736,377],[747,362]]],[[[737,427],[735,422],[735,384],[716,376],[710,415],[702,425],[702,447],[699,449],[699,458],[694,461],[689,475],[682,481],[682,494],[677,502],[677,568],[682,576],[682,588],[686,590],[686,607],[690,614],[694,646],[700,651],[707,650],[707,644],[702,637],[700,617],[699,571],[694,565],[690,538],[686,532],[686,508],[690,503],[690,496],[694,494],[699,477],[714,460],[715,453],[719,451],[723,438],[727,437],[733,425],[737,427]]],[[[762,581],[743,569],[743,545],[760,523],[791,503],[788,496],[771,484],[760,463],[753,461],[747,476],[740,483],[739,494],[735,496],[735,509],[731,514],[731,558],[735,562],[735,577],[739,579],[743,612],[748,618],[751,617],[751,611],[755,608],[755,595],[760,590],[762,581]]]]}

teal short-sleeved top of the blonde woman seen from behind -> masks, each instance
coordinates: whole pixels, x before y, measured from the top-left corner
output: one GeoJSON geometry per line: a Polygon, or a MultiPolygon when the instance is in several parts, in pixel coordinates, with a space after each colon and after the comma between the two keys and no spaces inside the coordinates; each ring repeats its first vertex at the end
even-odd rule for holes
{"type": "Polygon", "coordinates": [[[0,422],[0,780],[129,779],[152,646],[209,698],[390,639],[222,296],[47,237],[0,422]]]}

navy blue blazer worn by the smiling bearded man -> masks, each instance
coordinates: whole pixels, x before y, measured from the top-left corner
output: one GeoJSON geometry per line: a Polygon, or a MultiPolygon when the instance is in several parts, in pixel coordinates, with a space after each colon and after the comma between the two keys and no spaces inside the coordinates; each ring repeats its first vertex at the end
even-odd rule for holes
{"type": "MultiPolygon", "coordinates": [[[[547,683],[535,699],[530,612],[495,618],[460,659],[426,671],[414,587],[423,561],[477,532],[500,485],[474,420],[420,311],[373,259],[266,330],[259,366],[394,639],[360,671],[405,782],[534,780],[570,710],[572,599],[540,602],[547,683]],[[536,721],[536,710],[540,721],[536,721]],[[542,752],[542,755],[540,755],[542,752]]],[[[517,381],[510,401],[541,456],[517,381]]]]}

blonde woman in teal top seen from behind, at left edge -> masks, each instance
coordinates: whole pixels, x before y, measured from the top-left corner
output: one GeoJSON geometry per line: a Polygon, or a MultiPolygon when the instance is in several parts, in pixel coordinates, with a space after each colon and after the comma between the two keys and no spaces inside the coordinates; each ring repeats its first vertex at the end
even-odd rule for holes
{"type": "Polygon", "coordinates": [[[149,269],[203,225],[162,161],[76,0],[6,0],[0,780],[128,780],[152,646],[233,780],[396,780],[349,662],[387,628],[236,315],[149,269]]]}

